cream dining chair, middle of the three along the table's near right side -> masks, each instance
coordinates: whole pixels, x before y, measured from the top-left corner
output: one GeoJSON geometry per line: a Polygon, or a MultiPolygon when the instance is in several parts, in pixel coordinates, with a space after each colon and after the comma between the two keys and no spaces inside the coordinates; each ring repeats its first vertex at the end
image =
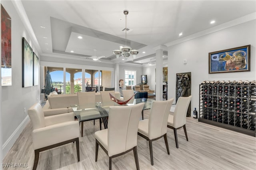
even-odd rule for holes
{"type": "Polygon", "coordinates": [[[167,153],[170,154],[167,141],[167,119],[174,99],[166,101],[153,101],[150,109],[149,119],[139,122],[138,135],[149,142],[150,161],[153,162],[152,141],[164,137],[167,153]]]}

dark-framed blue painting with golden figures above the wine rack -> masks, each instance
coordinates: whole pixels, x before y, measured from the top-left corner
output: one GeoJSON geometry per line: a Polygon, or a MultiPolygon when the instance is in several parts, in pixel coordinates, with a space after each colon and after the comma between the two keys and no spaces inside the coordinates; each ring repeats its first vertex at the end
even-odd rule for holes
{"type": "Polygon", "coordinates": [[[209,53],[209,74],[250,71],[250,47],[245,45],[209,53]]]}

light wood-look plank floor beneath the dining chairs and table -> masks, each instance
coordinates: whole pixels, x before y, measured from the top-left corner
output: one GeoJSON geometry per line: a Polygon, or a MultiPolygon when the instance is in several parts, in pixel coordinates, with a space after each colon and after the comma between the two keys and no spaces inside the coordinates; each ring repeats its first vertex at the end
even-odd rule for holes
{"type": "MultiPolygon", "coordinates": [[[[145,111],[145,118],[149,111],[145,111]]],[[[256,138],[198,122],[187,118],[188,141],[183,128],[178,131],[179,148],[176,148],[173,130],[168,128],[167,136],[170,155],[167,154],[164,138],[153,142],[154,166],[150,164],[148,141],[138,136],[138,158],[141,170],[255,170],[256,138]]],[[[98,162],[95,162],[94,132],[99,123],[84,123],[84,136],[80,137],[80,162],[77,162],[74,143],[40,152],[37,170],[105,170],[108,156],[99,147],[98,162]]],[[[5,156],[3,163],[28,163],[32,169],[34,150],[31,138],[32,125],[28,123],[14,146],[5,156]]],[[[136,169],[133,152],[112,159],[112,169],[136,169]]]]}

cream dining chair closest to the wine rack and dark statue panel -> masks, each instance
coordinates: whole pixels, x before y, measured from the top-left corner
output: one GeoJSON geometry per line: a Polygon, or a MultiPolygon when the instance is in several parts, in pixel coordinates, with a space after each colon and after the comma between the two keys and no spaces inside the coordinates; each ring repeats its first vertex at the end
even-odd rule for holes
{"type": "Polygon", "coordinates": [[[186,131],[186,115],[187,115],[188,106],[191,101],[191,98],[192,98],[191,95],[189,97],[179,97],[174,109],[174,113],[170,112],[170,115],[168,117],[167,127],[172,128],[174,131],[176,148],[179,148],[177,129],[183,127],[186,140],[188,141],[188,134],[186,131]]]}

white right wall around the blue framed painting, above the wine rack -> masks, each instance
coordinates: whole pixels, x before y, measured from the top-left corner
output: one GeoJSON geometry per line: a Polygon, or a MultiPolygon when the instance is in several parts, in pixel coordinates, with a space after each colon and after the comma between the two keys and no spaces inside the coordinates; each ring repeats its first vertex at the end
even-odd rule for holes
{"type": "Polygon", "coordinates": [[[191,72],[191,110],[199,106],[199,84],[204,80],[256,79],[256,20],[168,47],[168,99],[176,97],[176,73],[191,72]],[[208,74],[208,53],[251,45],[251,71],[208,74]],[[187,64],[183,60],[187,59],[187,64]],[[171,69],[171,70],[170,70],[171,69]]]}

